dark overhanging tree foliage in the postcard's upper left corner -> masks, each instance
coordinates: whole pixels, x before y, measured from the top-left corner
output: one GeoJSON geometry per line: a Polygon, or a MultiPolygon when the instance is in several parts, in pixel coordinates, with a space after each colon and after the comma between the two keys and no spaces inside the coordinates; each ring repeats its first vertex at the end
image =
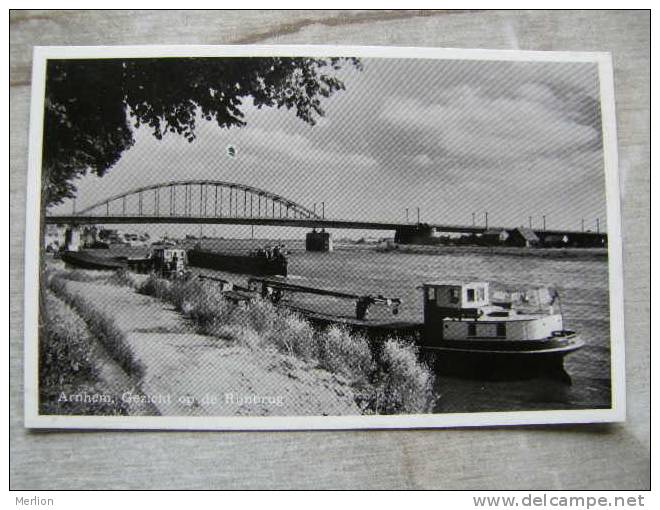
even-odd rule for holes
{"type": "Polygon", "coordinates": [[[295,111],[313,125],[323,98],[343,90],[336,71],[357,59],[306,57],[50,60],[43,141],[46,205],[75,196],[75,179],[103,176],[134,143],[133,128],[195,139],[198,115],[243,126],[243,100],[295,111]]]}

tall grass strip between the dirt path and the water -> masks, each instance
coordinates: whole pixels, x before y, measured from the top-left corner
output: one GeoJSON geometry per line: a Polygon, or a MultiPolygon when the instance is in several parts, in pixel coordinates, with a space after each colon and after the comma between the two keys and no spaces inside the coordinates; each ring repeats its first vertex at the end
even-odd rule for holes
{"type": "Polygon", "coordinates": [[[150,276],[138,292],[171,303],[192,319],[200,333],[231,339],[252,349],[279,352],[341,374],[365,414],[432,412],[434,376],[418,359],[416,346],[396,338],[378,345],[338,326],[317,330],[299,315],[266,300],[247,306],[224,299],[200,280],[150,276]]]}

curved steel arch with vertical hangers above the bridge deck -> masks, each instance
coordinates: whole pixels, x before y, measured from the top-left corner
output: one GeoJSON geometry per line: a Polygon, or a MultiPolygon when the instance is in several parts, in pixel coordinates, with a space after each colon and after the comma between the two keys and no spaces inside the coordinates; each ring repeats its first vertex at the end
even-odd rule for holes
{"type": "Polygon", "coordinates": [[[121,203],[122,214],[119,215],[126,215],[127,200],[132,197],[138,199],[139,216],[180,217],[199,215],[201,217],[321,219],[316,211],[277,193],[247,184],[211,179],[169,181],[134,188],[85,207],[76,212],[74,216],[90,215],[93,211],[101,208],[105,208],[105,214],[110,216],[111,206],[115,203],[121,203]],[[184,193],[182,200],[179,196],[180,190],[183,190],[184,193]],[[226,192],[229,193],[228,197],[224,196],[226,192]],[[210,198],[209,193],[211,194],[210,198]],[[148,195],[151,195],[151,197],[148,197],[148,195]],[[144,198],[152,198],[151,208],[143,207],[144,198]],[[166,206],[164,211],[161,207],[161,198],[164,198],[166,206]],[[177,198],[179,199],[178,203],[177,198]],[[209,203],[211,207],[209,207],[209,203]]]}

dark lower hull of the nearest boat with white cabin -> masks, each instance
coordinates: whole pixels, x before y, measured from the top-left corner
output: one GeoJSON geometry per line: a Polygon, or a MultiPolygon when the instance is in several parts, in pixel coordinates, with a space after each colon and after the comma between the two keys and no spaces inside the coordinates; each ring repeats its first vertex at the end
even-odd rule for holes
{"type": "Polygon", "coordinates": [[[426,361],[442,375],[480,380],[551,377],[570,382],[564,357],[583,347],[574,333],[533,341],[445,340],[422,345],[426,361]]]}

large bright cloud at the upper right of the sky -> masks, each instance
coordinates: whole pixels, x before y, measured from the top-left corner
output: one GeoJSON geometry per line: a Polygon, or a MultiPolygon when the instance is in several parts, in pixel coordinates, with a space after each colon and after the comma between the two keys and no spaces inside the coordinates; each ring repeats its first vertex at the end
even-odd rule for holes
{"type": "MultiPolygon", "coordinates": [[[[527,84],[515,97],[489,97],[469,86],[423,104],[391,97],[379,117],[406,154],[445,162],[512,163],[597,146],[600,134],[578,123],[548,87],[527,84]]],[[[381,153],[382,154],[382,153],[381,153]]]]}

